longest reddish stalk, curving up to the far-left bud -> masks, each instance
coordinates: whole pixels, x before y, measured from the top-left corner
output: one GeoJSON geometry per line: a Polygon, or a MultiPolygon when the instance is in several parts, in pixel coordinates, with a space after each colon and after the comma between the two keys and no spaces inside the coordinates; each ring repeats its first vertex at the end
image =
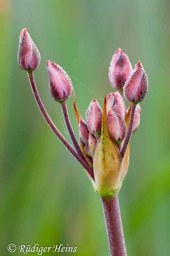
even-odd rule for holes
{"type": "Polygon", "coordinates": [[[64,146],[67,148],[67,150],[69,150],[69,152],[83,166],[83,168],[85,168],[85,170],[87,170],[87,172],[89,172],[89,174],[92,177],[92,179],[94,179],[94,173],[93,173],[92,168],[90,168],[89,164],[87,164],[87,162],[84,161],[79,156],[79,154],[73,149],[73,147],[71,147],[71,145],[67,142],[67,140],[64,138],[64,136],[62,136],[60,131],[57,129],[55,124],[53,124],[50,116],[46,112],[46,109],[45,109],[45,107],[43,105],[43,102],[41,101],[41,98],[39,97],[39,93],[38,93],[38,90],[36,88],[36,83],[35,83],[35,80],[34,80],[34,72],[27,72],[27,74],[28,74],[28,77],[29,77],[29,82],[31,84],[32,93],[34,95],[36,103],[38,104],[38,108],[41,111],[41,114],[43,115],[43,117],[46,120],[46,123],[50,126],[50,128],[53,131],[53,133],[59,138],[59,140],[62,142],[62,144],[64,144],[64,146]]]}

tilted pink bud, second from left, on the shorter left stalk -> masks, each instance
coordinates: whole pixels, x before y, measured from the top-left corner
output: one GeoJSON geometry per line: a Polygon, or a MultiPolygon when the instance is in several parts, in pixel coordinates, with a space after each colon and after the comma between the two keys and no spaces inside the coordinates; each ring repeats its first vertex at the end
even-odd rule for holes
{"type": "Polygon", "coordinates": [[[66,71],[52,61],[46,63],[48,69],[50,93],[58,102],[68,99],[72,93],[72,83],[66,71]]]}

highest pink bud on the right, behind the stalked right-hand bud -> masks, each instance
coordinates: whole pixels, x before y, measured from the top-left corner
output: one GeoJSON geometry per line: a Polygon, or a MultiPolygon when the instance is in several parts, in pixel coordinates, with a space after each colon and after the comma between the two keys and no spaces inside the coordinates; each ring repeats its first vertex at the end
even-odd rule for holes
{"type": "Polygon", "coordinates": [[[117,90],[122,90],[131,72],[132,65],[128,56],[122,49],[118,48],[110,63],[109,79],[111,86],[117,90]]]}

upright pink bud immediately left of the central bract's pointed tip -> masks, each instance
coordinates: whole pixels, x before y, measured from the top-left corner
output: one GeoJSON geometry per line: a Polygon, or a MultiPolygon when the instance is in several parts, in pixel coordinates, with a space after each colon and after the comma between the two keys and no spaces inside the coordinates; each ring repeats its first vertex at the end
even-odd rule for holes
{"type": "Polygon", "coordinates": [[[102,109],[99,102],[93,99],[86,113],[87,127],[96,138],[101,134],[102,109]]]}

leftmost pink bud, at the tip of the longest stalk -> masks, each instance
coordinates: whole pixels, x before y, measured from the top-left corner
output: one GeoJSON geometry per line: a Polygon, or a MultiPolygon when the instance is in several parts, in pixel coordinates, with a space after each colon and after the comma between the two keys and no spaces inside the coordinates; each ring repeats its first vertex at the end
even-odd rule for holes
{"type": "Polygon", "coordinates": [[[26,28],[20,32],[20,40],[18,46],[18,64],[25,71],[33,71],[38,68],[41,56],[38,48],[32,41],[26,28]]]}

